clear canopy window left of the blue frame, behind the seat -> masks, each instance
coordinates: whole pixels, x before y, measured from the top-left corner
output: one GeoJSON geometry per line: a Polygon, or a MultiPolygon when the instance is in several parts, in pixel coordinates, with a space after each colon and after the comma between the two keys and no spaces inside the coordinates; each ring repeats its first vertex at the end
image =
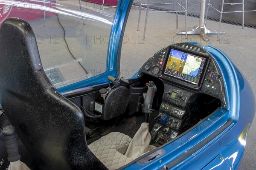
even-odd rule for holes
{"type": "Polygon", "coordinates": [[[19,17],[32,26],[44,70],[56,88],[105,72],[117,1],[90,1],[0,0],[0,24],[19,17]]]}

